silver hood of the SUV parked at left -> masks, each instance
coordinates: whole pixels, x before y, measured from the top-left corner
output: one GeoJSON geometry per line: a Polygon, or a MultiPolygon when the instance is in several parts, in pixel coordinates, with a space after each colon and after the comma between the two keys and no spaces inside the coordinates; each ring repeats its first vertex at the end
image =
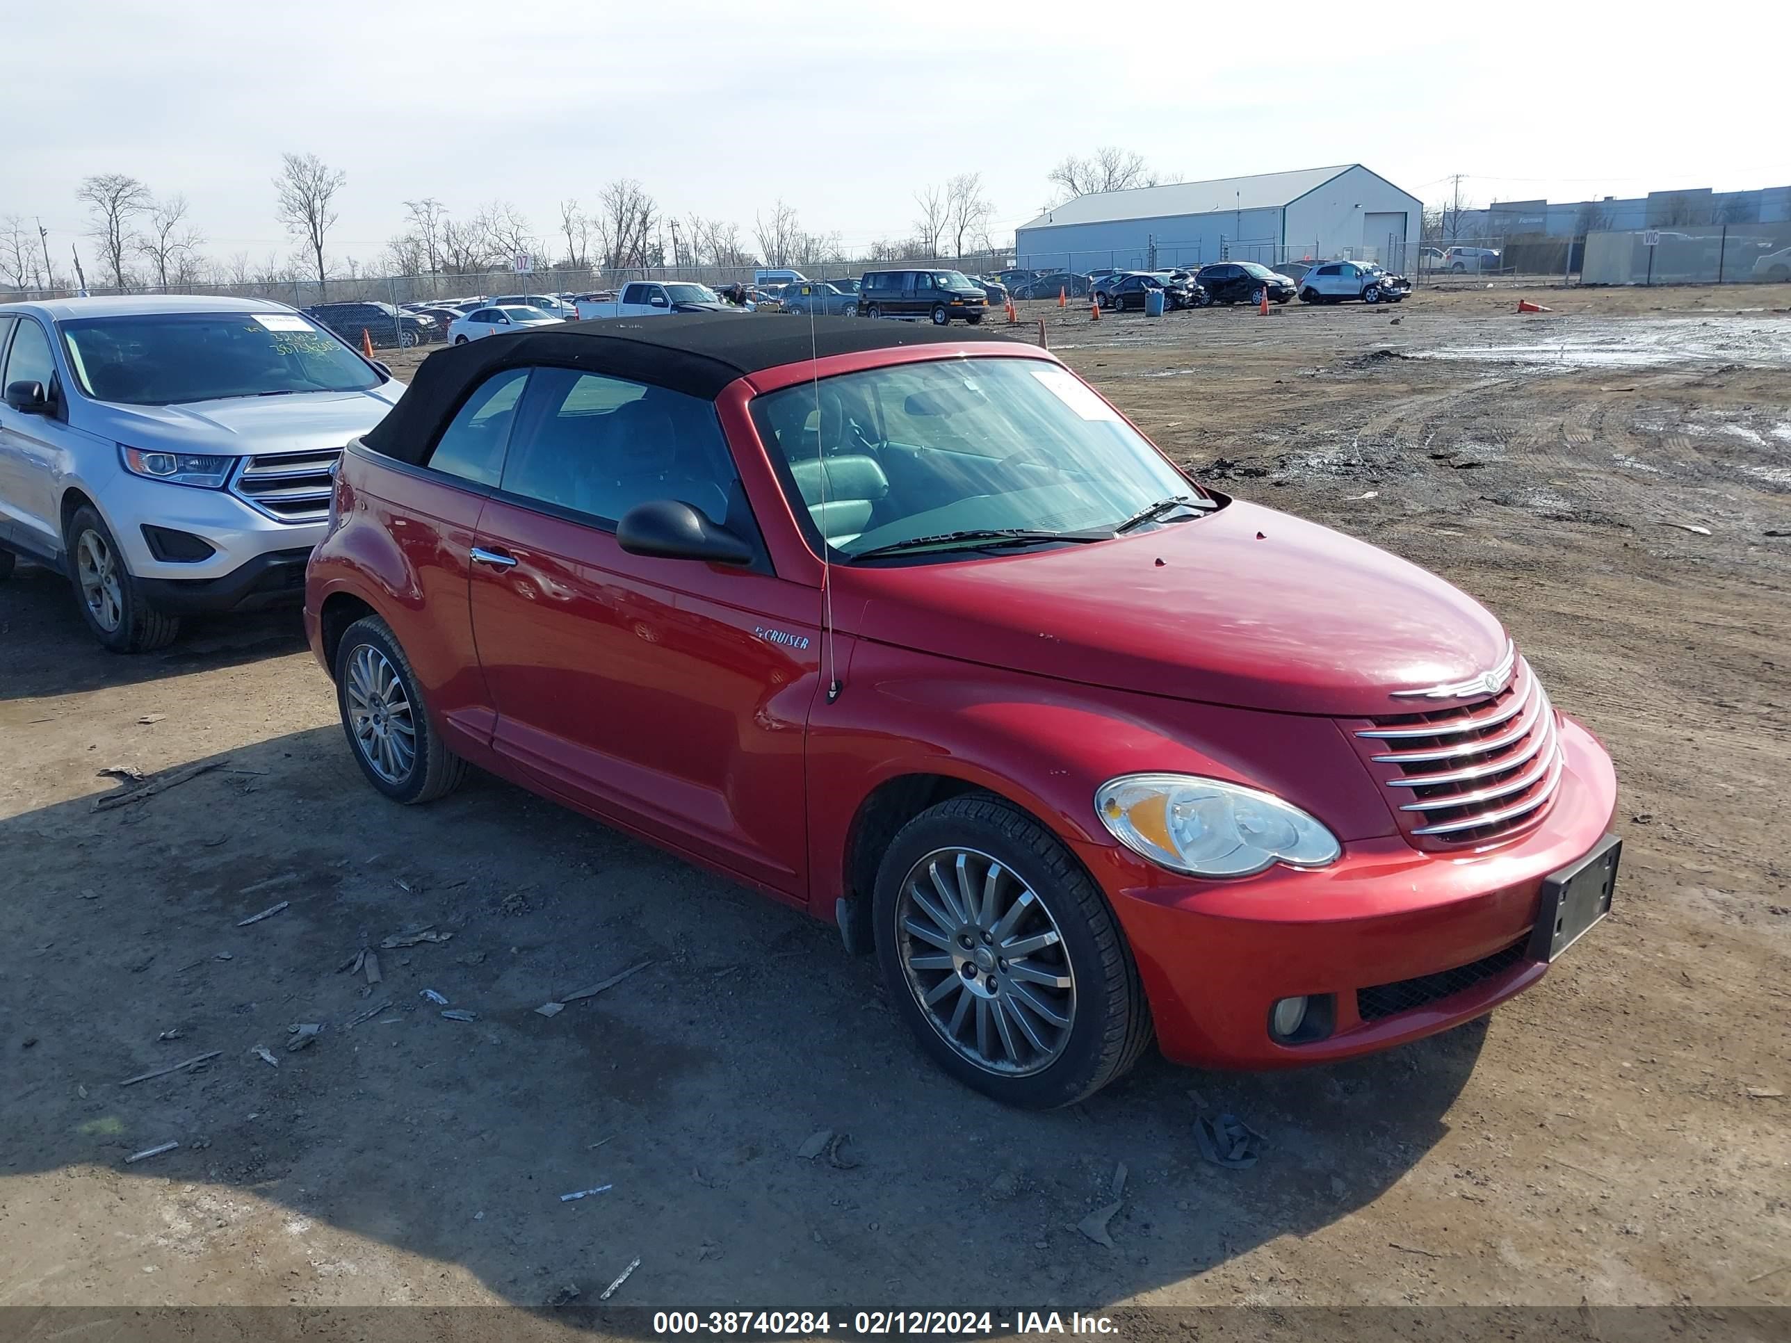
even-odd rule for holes
{"type": "Polygon", "coordinates": [[[99,406],[95,433],[131,448],[181,453],[292,453],[342,448],[390,410],[405,385],[396,378],[365,392],[233,396],[179,406],[99,406]]]}

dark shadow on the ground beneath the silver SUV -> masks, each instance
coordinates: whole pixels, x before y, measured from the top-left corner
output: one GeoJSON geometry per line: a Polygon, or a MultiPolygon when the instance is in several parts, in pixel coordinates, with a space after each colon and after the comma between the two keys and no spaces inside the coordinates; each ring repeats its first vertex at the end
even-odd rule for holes
{"type": "Polygon", "coordinates": [[[294,605],[231,616],[190,616],[181,621],[179,637],[167,648],[111,654],[88,632],[68,580],[25,560],[20,560],[13,577],[0,582],[0,632],[7,646],[0,700],[133,686],[304,648],[304,625],[294,605]]]}

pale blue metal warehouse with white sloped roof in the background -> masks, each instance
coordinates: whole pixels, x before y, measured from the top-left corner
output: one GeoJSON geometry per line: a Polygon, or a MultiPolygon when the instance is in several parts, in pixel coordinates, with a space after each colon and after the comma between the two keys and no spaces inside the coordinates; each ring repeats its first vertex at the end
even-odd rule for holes
{"type": "Polygon", "coordinates": [[[1023,267],[1075,272],[1320,258],[1404,269],[1422,226],[1415,195],[1347,163],[1078,195],[1015,229],[1014,252],[1023,267]]]}

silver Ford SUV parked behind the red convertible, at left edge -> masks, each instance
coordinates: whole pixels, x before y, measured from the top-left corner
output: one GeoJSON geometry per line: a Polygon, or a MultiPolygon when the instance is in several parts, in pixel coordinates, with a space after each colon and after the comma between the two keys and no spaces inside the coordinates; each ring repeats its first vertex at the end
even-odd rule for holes
{"type": "Polygon", "coordinates": [[[68,575],[115,652],[304,595],[349,439],[403,392],[294,308],[127,295],[0,306],[0,578],[68,575]]]}

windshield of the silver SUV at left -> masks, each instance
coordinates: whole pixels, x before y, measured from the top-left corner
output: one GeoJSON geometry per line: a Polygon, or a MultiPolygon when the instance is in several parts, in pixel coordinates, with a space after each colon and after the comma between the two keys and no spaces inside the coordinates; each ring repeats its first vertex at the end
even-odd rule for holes
{"type": "Polygon", "coordinates": [[[165,406],[278,392],[364,392],[380,374],[287,312],[154,313],[61,322],[68,364],[95,401],[165,406]]]}

